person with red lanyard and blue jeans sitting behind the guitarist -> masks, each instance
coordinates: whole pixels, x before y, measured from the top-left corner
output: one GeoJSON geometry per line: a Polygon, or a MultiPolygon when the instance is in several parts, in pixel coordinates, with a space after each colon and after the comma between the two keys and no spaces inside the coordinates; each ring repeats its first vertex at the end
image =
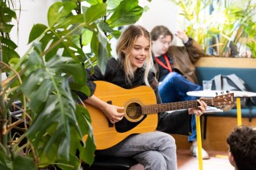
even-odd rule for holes
{"type": "MultiPolygon", "coordinates": [[[[195,63],[201,56],[205,56],[202,47],[195,40],[187,37],[183,31],[177,31],[184,47],[170,46],[173,34],[167,27],[156,26],[151,30],[152,56],[154,71],[160,85],[158,87],[163,103],[175,101],[193,101],[196,97],[186,95],[187,91],[202,90],[196,85],[195,63]]],[[[192,134],[189,142],[192,143],[190,152],[198,157],[196,143],[196,117],[193,115],[192,134]]],[[[203,159],[209,159],[208,153],[202,150],[203,159]]]]}

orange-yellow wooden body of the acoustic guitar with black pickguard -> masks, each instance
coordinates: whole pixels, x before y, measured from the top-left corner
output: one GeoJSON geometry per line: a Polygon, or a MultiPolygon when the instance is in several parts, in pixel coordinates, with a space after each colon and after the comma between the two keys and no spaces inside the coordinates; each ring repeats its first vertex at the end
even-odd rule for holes
{"type": "MultiPolygon", "coordinates": [[[[95,95],[102,101],[111,102],[116,106],[130,107],[142,104],[156,104],[154,91],[148,86],[125,89],[109,82],[96,81],[95,95]]],[[[86,104],[86,109],[92,118],[92,130],[95,136],[96,149],[107,149],[124,140],[133,133],[146,133],[156,130],[157,114],[138,115],[130,111],[118,123],[109,122],[105,114],[98,108],[86,104]]]]}

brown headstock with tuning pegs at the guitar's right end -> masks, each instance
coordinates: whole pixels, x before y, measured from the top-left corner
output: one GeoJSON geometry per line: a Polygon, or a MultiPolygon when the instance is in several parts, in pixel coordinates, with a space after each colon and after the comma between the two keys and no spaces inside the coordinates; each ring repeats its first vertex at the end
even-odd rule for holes
{"type": "Polygon", "coordinates": [[[212,104],[214,107],[224,108],[226,106],[230,106],[235,104],[234,93],[228,93],[225,95],[217,95],[212,98],[212,104]]]}

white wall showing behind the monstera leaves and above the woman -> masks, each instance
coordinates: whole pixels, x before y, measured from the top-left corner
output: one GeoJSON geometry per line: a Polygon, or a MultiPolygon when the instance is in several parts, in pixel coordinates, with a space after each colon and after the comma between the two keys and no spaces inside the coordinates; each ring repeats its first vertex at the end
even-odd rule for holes
{"type": "MultiPolygon", "coordinates": [[[[53,2],[57,0],[26,0],[21,1],[21,14],[17,33],[17,24],[11,30],[11,39],[18,44],[18,53],[23,56],[28,50],[28,38],[31,28],[34,24],[47,25],[47,10],[53,2]]],[[[177,7],[170,0],[140,0],[140,5],[148,5],[149,10],[144,12],[137,24],[141,24],[151,31],[151,29],[159,24],[168,27],[173,33],[178,29],[183,29],[178,21],[177,7]]],[[[16,1],[18,3],[18,1],[16,1]]],[[[15,5],[19,8],[19,4],[15,5]]],[[[19,16],[18,16],[19,17],[19,16]]],[[[176,43],[176,40],[173,40],[176,43]]]]}

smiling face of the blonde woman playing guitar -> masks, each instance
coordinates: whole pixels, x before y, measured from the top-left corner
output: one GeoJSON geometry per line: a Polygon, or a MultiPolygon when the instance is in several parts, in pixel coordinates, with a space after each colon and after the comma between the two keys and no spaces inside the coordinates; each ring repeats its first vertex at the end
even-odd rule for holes
{"type": "Polygon", "coordinates": [[[131,55],[129,56],[134,71],[143,66],[147,57],[150,56],[150,53],[150,41],[144,36],[138,37],[134,43],[134,47],[131,49],[131,55]]]}

